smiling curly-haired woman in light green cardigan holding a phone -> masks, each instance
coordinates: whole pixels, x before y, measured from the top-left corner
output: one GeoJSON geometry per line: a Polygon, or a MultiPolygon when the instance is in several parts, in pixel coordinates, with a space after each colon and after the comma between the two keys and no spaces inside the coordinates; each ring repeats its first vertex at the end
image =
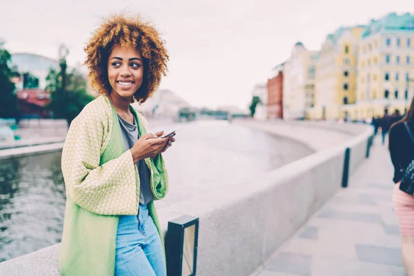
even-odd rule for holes
{"type": "Polygon", "coordinates": [[[62,152],[66,213],[61,275],[166,275],[154,200],[168,191],[161,157],[172,136],[146,133],[130,103],[144,103],[166,74],[159,33],[139,17],[115,15],[85,51],[101,95],[72,121],[62,152]]]}

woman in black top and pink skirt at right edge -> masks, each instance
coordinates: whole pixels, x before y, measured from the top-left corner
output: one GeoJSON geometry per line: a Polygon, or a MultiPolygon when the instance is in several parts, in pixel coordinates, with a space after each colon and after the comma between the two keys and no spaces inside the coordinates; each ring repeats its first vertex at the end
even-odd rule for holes
{"type": "Polygon", "coordinates": [[[393,204],[400,235],[402,237],[402,260],[408,276],[414,275],[414,196],[400,190],[402,175],[408,164],[414,159],[414,144],[406,126],[414,133],[414,98],[411,107],[400,121],[391,127],[389,149],[395,168],[393,204]]]}

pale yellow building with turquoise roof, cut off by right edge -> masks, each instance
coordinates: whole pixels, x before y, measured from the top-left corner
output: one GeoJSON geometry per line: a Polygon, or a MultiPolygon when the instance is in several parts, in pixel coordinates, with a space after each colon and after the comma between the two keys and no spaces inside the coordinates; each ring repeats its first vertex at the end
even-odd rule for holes
{"type": "Polygon", "coordinates": [[[373,20],[359,44],[357,97],[352,119],[404,112],[414,95],[414,14],[373,20]]]}

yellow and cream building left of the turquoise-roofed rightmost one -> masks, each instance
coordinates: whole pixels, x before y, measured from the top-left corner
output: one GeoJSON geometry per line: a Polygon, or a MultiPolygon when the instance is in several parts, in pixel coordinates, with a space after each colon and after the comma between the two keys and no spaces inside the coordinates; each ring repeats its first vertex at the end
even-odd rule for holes
{"type": "Polygon", "coordinates": [[[359,39],[365,26],[341,27],[328,34],[317,54],[315,107],[309,119],[344,119],[355,103],[359,39]]]}

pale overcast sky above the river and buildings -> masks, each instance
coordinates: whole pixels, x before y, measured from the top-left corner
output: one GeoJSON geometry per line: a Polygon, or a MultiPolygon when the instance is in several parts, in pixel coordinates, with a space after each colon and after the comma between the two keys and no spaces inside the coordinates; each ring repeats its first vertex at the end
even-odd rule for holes
{"type": "Polygon", "coordinates": [[[83,48],[104,17],[141,14],[166,41],[170,61],[160,88],[198,107],[246,108],[256,83],[286,61],[297,41],[319,50],[339,26],[414,12],[412,0],[0,0],[0,37],[14,52],[83,63],[83,48]]]}

